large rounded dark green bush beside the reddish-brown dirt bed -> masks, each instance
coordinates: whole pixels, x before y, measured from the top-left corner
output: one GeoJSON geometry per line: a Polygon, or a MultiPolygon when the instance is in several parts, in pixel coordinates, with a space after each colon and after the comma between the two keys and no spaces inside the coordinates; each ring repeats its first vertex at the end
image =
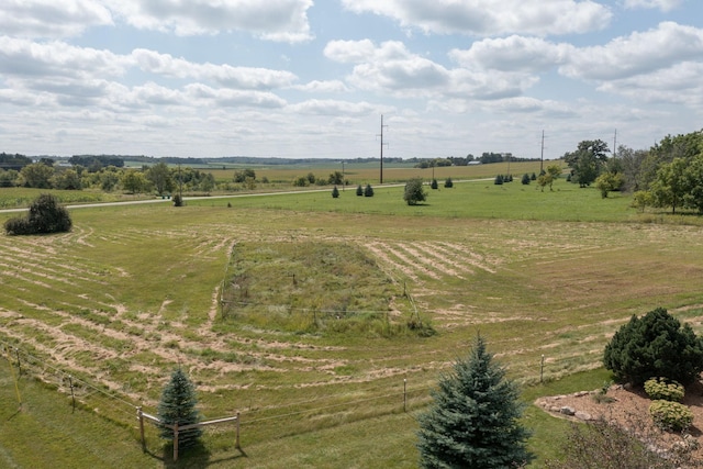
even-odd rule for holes
{"type": "Polygon", "coordinates": [[[658,308],[641,319],[633,315],[615,333],[605,346],[603,365],[633,384],[662,377],[687,386],[703,370],[703,339],[658,308]]]}

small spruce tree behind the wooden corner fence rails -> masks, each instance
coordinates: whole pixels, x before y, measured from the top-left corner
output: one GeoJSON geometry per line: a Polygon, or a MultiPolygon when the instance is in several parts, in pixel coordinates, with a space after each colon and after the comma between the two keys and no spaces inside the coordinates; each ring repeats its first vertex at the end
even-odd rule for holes
{"type": "MultiPolygon", "coordinates": [[[[171,380],[161,391],[161,400],[158,403],[158,418],[169,425],[178,423],[178,426],[190,425],[200,422],[200,412],[196,409],[198,399],[196,387],[188,376],[178,368],[171,373],[171,380]]],[[[178,447],[185,448],[197,443],[202,435],[201,428],[190,428],[178,433],[178,447]]],[[[174,431],[161,426],[160,436],[172,440],[174,431]]]]}

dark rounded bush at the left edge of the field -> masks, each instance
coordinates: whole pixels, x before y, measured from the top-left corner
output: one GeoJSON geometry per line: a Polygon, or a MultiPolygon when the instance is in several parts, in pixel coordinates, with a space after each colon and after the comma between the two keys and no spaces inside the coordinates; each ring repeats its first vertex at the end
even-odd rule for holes
{"type": "Polygon", "coordinates": [[[30,205],[26,217],[10,219],[4,223],[9,235],[29,235],[69,232],[72,222],[66,208],[48,193],[43,193],[30,205]]]}

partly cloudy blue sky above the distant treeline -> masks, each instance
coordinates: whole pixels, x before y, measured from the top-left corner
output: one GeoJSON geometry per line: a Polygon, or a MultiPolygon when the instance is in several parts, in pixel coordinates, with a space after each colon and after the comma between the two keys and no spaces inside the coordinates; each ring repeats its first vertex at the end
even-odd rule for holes
{"type": "Polygon", "coordinates": [[[701,0],[0,2],[7,153],[554,159],[702,118],[701,0]]]}

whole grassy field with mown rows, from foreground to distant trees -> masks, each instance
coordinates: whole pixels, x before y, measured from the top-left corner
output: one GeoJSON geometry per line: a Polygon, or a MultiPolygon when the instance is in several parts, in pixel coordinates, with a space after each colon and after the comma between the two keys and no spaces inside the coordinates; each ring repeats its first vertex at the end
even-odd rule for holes
{"type": "MultiPolygon", "coordinates": [[[[0,235],[0,466],[413,468],[415,415],[479,332],[527,402],[602,387],[633,314],[703,333],[698,216],[563,179],[436,177],[416,206],[353,186],[71,209],[68,234],[0,235]],[[242,450],[219,425],[178,462],[152,426],[142,451],[136,406],[155,414],[177,367],[205,420],[241,413],[242,450]]],[[[538,468],[565,423],[535,406],[525,423],[538,468]]]]}

